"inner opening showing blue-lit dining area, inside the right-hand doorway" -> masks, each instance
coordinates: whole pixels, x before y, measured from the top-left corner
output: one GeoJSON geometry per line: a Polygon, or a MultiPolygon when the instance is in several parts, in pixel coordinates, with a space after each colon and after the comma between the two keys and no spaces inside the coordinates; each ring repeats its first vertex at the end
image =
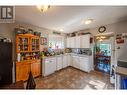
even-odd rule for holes
{"type": "Polygon", "coordinates": [[[96,43],[95,70],[110,73],[111,44],[96,43]]]}

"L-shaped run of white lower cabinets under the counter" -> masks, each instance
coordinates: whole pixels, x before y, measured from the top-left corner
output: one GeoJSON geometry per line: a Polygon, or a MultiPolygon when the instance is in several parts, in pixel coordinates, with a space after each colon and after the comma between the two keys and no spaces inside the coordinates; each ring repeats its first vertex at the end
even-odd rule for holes
{"type": "Polygon", "coordinates": [[[93,70],[90,56],[78,56],[65,54],[43,59],[43,75],[47,76],[54,73],[56,70],[72,66],[85,72],[93,70]]]}

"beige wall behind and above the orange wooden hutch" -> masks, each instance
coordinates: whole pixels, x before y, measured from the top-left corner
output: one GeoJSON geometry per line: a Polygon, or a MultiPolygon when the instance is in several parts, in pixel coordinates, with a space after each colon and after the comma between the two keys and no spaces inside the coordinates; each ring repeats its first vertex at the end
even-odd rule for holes
{"type": "MultiPolygon", "coordinates": [[[[47,37],[47,38],[48,38],[49,34],[53,33],[52,30],[37,27],[34,25],[30,25],[30,24],[20,23],[20,22],[0,24],[0,36],[11,39],[12,43],[13,43],[13,72],[12,72],[13,73],[13,82],[15,82],[15,61],[16,61],[14,28],[18,27],[18,26],[23,26],[26,30],[30,28],[30,29],[33,29],[33,31],[41,32],[42,36],[47,37]]],[[[62,35],[65,36],[65,34],[62,34],[62,35]]],[[[40,45],[40,50],[41,51],[43,50],[43,45],[40,45]]]]}

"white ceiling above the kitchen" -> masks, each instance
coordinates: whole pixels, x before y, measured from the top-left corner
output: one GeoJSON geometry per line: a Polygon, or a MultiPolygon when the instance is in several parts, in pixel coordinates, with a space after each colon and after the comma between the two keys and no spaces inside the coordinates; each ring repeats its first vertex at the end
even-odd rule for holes
{"type": "Polygon", "coordinates": [[[115,23],[127,18],[127,6],[51,6],[41,13],[36,6],[16,6],[16,21],[64,33],[115,23]],[[82,20],[94,19],[85,25],[82,20]]]}

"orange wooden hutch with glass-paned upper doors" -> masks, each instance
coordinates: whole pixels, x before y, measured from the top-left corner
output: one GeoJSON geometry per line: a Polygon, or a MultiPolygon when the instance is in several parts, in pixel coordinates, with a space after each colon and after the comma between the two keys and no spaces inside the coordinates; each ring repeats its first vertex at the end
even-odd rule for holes
{"type": "MultiPolygon", "coordinates": [[[[25,57],[34,58],[35,57],[34,52],[35,54],[39,54],[40,52],[39,36],[35,36],[32,34],[16,35],[16,53],[17,53],[16,55],[18,55],[18,53],[23,54],[21,55],[23,56],[21,59],[24,59],[25,57]],[[33,43],[32,40],[34,40],[35,50],[32,50],[32,43],[33,43]],[[24,50],[26,48],[27,50],[24,50]]],[[[39,76],[40,69],[41,69],[40,67],[41,67],[40,59],[23,60],[20,62],[16,61],[16,81],[20,81],[20,80],[26,81],[28,79],[28,75],[30,71],[32,72],[33,77],[39,76]]]]}

